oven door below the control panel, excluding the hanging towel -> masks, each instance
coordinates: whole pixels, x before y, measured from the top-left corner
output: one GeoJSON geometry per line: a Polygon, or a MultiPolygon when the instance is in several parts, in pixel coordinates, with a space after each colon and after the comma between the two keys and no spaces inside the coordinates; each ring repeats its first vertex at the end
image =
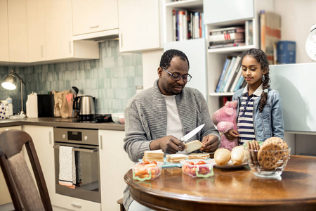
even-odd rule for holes
{"type": "MultiPolygon", "coordinates": [[[[56,193],[91,200],[101,203],[100,192],[100,170],[99,170],[99,151],[98,146],[83,146],[73,143],[55,142],[55,188],[56,193]],[[68,188],[59,184],[59,147],[72,146],[75,156],[80,157],[79,167],[81,167],[81,184],[77,184],[75,188],[68,188]]],[[[78,165],[78,163],[76,163],[78,165]]]]}

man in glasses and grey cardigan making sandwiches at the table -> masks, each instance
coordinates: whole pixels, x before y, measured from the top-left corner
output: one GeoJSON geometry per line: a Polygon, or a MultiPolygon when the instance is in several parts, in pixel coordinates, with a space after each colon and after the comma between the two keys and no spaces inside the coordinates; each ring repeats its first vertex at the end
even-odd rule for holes
{"type": "MultiPolygon", "coordinates": [[[[201,124],[200,132],[189,141],[202,141],[199,151],[216,151],[220,136],[214,127],[204,96],[197,89],[185,87],[192,78],[190,64],[182,51],[164,52],[157,70],[159,78],[150,89],[133,96],[126,106],[124,150],[133,162],[143,158],[145,151],[162,149],[164,153],[185,153],[179,139],[201,124]]],[[[126,210],[147,210],[124,191],[126,210]]]]}

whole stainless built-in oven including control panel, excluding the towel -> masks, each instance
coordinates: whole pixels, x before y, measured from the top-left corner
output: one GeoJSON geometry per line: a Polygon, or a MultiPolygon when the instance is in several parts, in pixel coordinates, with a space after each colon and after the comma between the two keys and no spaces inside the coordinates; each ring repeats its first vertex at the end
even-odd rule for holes
{"type": "Polygon", "coordinates": [[[98,129],[55,127],[53,134],[56,193],[101,203],[98,129]],[[68,146],[74,152],[75,170],[80,182],[72,188],[59,183],[60,146],[68,146]]]}

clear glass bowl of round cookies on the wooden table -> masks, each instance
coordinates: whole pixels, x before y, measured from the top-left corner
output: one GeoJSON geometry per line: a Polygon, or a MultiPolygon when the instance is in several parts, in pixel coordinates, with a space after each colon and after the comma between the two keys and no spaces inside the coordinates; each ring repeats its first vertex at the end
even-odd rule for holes
{"type": "Polygon", "coordinates": [[[248,165],[257,177],[280,179],[290,158],[289,149],[250,150],[245,149],[248,165]]]}

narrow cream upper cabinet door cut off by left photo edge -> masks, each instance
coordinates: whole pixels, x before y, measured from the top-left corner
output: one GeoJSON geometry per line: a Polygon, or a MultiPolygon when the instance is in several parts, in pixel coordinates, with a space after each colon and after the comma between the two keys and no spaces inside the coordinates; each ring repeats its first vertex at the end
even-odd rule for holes
{"type": "Polygon", "coordinates": [[[8,51],[8,2],[0,0],[0,61],[9,60],[8,51]]]}

